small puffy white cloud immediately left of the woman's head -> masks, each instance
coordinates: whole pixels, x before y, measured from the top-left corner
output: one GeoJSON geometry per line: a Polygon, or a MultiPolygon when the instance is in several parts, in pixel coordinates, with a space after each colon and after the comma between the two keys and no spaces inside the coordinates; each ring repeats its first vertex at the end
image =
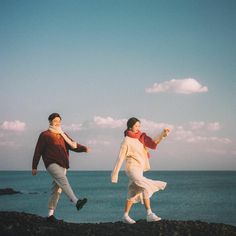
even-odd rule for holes
{"type": "Polygon", "coordinates": [[[107,128],[119,128],[124,126],[126,122],[126,119],[115,120],[110,116],[108,117],[95,116],[93,120],[97,126],[107,127],[107,128]]]}

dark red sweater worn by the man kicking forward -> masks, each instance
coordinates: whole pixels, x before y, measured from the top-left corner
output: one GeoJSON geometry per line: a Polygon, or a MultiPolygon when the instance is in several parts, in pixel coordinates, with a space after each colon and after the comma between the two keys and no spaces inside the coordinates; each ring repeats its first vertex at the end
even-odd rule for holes
{"type": "MultiPolygon", "coordinates": [[[[68,136],[68,138],[70,137],[68,136]]],[[[72,149],[64,141],[61,135],[55,134],[49,130],[42,132],[39,135],[38,142],[35,147],[34,157],[32,161],[32,169],[37,169],[41,156],[43,158],[43,162],[46,168],[50,164],[56,163],[68,169],[69,150],[72,150],[74,152],[86,152],[87,147],[77,144],[77,148],[72,149]]]]}

